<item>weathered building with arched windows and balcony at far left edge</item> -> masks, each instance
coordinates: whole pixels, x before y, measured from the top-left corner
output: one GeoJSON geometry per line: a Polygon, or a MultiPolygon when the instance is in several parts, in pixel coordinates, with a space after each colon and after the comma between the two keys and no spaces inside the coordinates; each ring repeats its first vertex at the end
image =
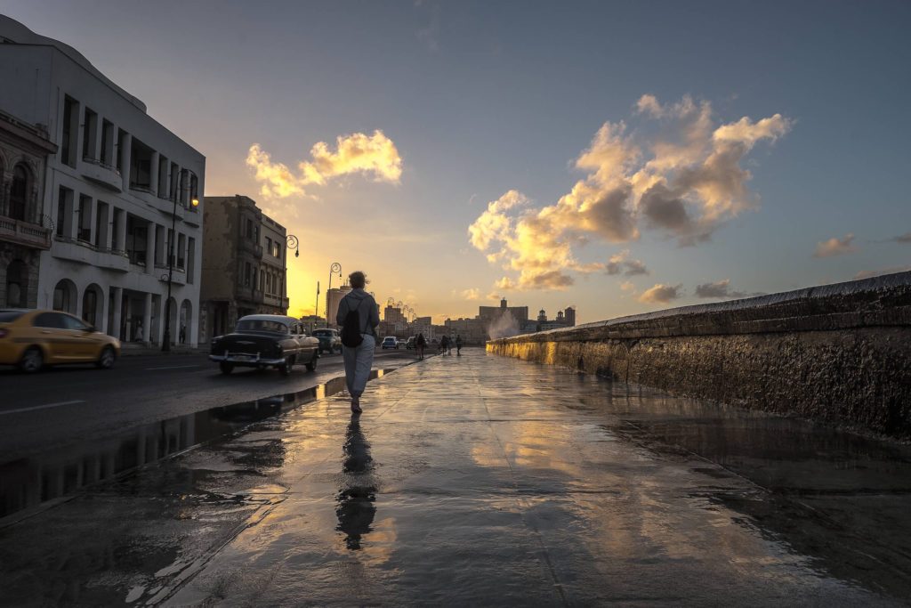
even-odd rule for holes
{"type": "Polygon", "coordinates": [[[41,252],[51,246],[44,210],[45,129],[0,112],[0,306],[35,308],[41,252]]]}

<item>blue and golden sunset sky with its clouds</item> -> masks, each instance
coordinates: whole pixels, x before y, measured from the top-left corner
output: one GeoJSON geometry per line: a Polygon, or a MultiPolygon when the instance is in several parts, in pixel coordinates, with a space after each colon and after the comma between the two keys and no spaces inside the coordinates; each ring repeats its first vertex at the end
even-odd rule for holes
{"type": "Polygon", "coordinates": [[[500,297],[590,322],[911,269],[905,1],[0,13],[199,149],[206,195],[299,237],[291,314],[333,263],[435,322],[500,297]]]}

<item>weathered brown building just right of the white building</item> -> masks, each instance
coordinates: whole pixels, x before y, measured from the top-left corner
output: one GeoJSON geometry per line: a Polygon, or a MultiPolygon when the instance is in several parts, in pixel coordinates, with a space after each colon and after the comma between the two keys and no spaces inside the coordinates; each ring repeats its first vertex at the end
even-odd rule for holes
{"type": "Polygon", "coordinates": [[[246,314],[286,314],[285,229],[241,194],[206,197],[203,217],[202,342],[246,314]]]}

